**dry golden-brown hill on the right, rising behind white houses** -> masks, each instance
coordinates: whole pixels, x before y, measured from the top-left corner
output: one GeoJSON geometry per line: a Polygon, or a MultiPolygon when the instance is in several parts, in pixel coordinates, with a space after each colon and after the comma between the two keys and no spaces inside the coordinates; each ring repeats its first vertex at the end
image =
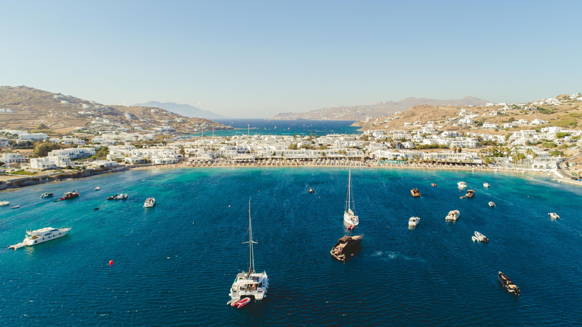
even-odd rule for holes
{"type": "MultiPolygon", "coordinates": [[[[558,97],[556,97],[558,98],[558,97]]],[[[512,120],[547,120],[548,126],[560,126],[564,128],[573,128],[582,126],[582,106],[580,102],[571,102],[561,105],[543,105],[540,106],[538,111],[524,111],[523,109],[512,109],[506,110],[505,115],[491,116],[489,113],[501,108],[500,106],[431,106],[431,105],[416,105],[412,108],[399,114],[401,118],[394,119],[386,123],[379,123],[387,120],[389,116],[379,116],[371,119],[369,122],[359,121],[353,124],[353,126],[360,126],[362,130],[368,129],[415,129],[417,127],[407,126],[404,127],[404,123],[412,123],[420,121],[426,123],[430,120],[435,122],[435,126],[443,126],[441,130],[460,130],[462,127],[453,126],[452,123],[446,121],[447,118],[457,118],[461,109],[466,109],[467,111],[477,113],[481,115],[475,118],[475,121],[482,120],[482,122],[495,123],[503,125],[503,123],[510,122],[512,120]],[[378,119],[378,120],[377,120],[378,119]],[[375,123],[377,125],[375,125],[375,123]]],[[[392,115],[394,117],[396,115],[392,115]]],[[[519,128],[509,129],[509,131],[520,130],[520,129],[534,129],[539,127],[539,125],[528,126],[522,125],[519,128]]],[[[464,129],[468,131],[469,129],[464,129]]],[[[471,131],[479,131],[478,129],[470,129],[471,131]]],[[[499,131],[494,130],[481,130],[486,131],[486,133],[491,134],[506,134],[508,131],[504,129],[499,129],[499,131]]]]}

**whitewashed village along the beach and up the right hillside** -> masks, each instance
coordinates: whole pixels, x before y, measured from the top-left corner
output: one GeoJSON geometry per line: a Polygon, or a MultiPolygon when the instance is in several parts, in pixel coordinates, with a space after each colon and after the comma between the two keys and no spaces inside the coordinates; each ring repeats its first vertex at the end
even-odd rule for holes
{"type": "MultiPolygon", "coordinates": [[[[139,123],[137,126],[123,123],[145,122],[146,112],[163,114],[154,108],[130,108],[117,121],[95,115],[85,126],[66,136],[0,130],[3,149],[0,161],[4,166],[0,178],[11,183],[22,175],[31,179],[55,178],[59,173],[79,170],[175,163],[194,166],[455,165],[556,172],[565,159],[570,161],[570,166],[577,165],[577,158],[582,154],[582,128],[578,127],[582,119],[581,104],[582,94],[571,94],[527,104],[420,105],[391,116],[367,117],[354,123],[361,126],[361,134],[242,134],[190,139],[180,138],[176,129],[165,125],[146,129],[139,123]],[[19,150],[23,143],[30,144],[27,151],[19,150]]],[[[96,112],[104,108],[84,109],[96,112]]],[[[178,122],[183,118],[173,119],[178,122]]],[[[164,123],[170,124],[171,120],[164,123]]],[[[574,167],[571,173],[577,174],[577,169],[574,167]]]]}

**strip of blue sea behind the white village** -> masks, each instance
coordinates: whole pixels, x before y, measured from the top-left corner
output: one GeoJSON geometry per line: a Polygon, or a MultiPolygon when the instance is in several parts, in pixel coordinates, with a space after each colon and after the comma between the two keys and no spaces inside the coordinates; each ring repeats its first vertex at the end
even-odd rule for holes
{"type": "MultiPolygon", "coordinates": [[[[360,134],[360,127],[353,127],[355,120],[269,120],[269,119],[216,119],[215,121],[235,127],[233,130],[216,130],[214,136],[233,136],[247,134],[247,125],[250,125],[250,134],[260,135],[313,135],[326,134],[360,134]],[[275,128],[276,127],[276,128],[275,128]]],[[[201,133],[192,134],[200,136],[201,133]]],[[[212,130],[205,130],[205,136],[212,135],[212,130]]]]}

